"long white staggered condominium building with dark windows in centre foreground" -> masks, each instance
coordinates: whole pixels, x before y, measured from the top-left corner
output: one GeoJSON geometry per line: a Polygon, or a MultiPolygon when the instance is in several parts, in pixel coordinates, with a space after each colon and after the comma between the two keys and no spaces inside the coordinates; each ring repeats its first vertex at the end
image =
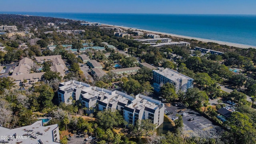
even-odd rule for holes
{"type": "Polygon", "coordinates": [[[128,124],[136,124],[137,120],[150,119],[156,127],[164,122],[164,104],[158,100],[137,94],[130,96],[120,91],[90,86],[84,82],[70,80],[62,82],[58,89],[59,102],[71,104],[79,100],[87,113],[97,110],[120,110],[128,124]]]}

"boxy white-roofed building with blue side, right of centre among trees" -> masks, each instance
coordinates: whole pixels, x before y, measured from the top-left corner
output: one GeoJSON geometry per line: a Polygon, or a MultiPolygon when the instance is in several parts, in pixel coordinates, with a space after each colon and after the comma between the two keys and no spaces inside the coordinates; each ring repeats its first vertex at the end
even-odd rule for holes
{"type": "Polygon", "coordinates": [[[181,90],[186,92],[188,88],[193,88],[194,79],[170,68],[158,68],[153,70],[154,88],[156,91],[160,90],[160,84],[166,84],[167,82],[174,85],[176,93],[181,90]]]}

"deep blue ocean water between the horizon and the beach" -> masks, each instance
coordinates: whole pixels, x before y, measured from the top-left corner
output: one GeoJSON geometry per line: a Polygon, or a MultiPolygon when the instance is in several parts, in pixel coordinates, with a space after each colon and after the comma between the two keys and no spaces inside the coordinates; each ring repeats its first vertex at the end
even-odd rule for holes
{"type": "Polygon", "coordinates": [[[100,22],[256,46],[256,15],[0,12],[100,22]]]}

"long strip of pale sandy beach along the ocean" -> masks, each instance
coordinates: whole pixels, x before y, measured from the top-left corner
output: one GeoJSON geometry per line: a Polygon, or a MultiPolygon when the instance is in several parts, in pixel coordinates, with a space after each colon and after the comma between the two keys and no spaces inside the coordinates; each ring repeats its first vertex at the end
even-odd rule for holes
{"type": "Polygon", "coordinates": [[[118,28],[139,30],[139,31],[155,33],[155,34],[168,35],[168,36],[172,36],[172,37],[176,37],[176,38],[194,39],[194,40],[198,40],[198,41],[202,41],[202,42],[214,42],[214,43],[217,43],[217,44],[233,46],[233,47],[236,47],[236,48],[256,48],[256,46],[248,46],[248,45],[244,45],[244,44],[235,44],[235,43],[231,43],[231,42],[222,42],[222,41],[218,41],[218,40],[208,40],[208,39],[204,39],[204,38],[194,38],[194,37],[190,37],[190,36],[181,36],[181,35],[177,35],[177,34],[170,34],[170,33],[165,33],[165,32],[156,32],[156,31],[152,31],[152,30],[143,30],[143,29],[138,29],[138,28],[129,28],[129,27],[125,27],[125,26],[115,26],[115,25],[110,25],[110,24],[102,24],[102,25],[110,26],[110,27],[118,27],[118,28]]]}

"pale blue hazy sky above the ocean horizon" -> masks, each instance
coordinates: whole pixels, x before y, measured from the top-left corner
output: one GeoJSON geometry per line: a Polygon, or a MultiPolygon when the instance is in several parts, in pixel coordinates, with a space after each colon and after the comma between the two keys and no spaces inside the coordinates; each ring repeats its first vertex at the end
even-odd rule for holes
{"type": "Polygon", "coordinates": [[[256,14],[256,0],[0,0],[2,12],[256,14]]]}

